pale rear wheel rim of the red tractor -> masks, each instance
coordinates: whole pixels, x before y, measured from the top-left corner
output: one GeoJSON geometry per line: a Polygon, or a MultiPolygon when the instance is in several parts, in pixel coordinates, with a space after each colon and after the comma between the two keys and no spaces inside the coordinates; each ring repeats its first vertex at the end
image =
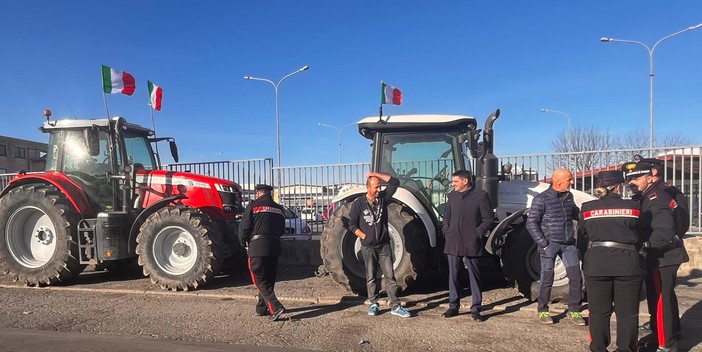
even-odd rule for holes
{"type": "Polygon", "coordinates": [[[18,264],[36,269],[54,256],[56,228],[43,210],[24,206],[7,219],[5,244],[18,264]]]}

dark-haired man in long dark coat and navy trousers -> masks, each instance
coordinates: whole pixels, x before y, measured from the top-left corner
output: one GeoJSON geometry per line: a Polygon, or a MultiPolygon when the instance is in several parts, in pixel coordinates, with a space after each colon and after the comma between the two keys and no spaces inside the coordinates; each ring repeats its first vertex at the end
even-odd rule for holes
{"type": "Polygon", "coordinates": [[[470,292],[473,302],[470,306],[471,317],[483,321],[480,305],[483,296],[480,291],[480,271],[478,257],[484,255],[483,237],[487,235],[490,224],[494,223],[494,214],[487,192],[471,187],[470,173],[458,170],[452,175],[454,191],[448,195],[448,206],[444,214],[442,232],[446,239],[444,253],[449,265],[449,308],[443,314],[445,318],[458,315],[460,295],[458,273],[462,260],[468,269],[470,292]]]}

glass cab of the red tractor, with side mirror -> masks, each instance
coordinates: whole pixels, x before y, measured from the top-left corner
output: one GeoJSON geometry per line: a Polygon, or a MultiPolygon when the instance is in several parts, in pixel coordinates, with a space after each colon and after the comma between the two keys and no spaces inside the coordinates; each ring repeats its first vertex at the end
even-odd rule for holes
{"type": "MultiPolygon", "coordinates": [[[[131,208],[133,172],[159,169],[153,132],[121,117],[46,121],[41,131],[50,135],[46,171],[78,184],[95,213],[131,208]]],[[[172,140],[171,150],[177,160],[172,140]]]]}

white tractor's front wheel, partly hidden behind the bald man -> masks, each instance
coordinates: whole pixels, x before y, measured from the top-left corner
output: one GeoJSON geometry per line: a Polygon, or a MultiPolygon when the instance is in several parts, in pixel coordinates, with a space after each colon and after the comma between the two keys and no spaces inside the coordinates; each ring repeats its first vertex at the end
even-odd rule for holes
{"type": "MultiPolygon", "coordinates": [[[[524,297],[536,301],[538,299],[539,278],[541,275],[541,258],[536,243],[527,231],[525,223],[515,226],[507,235],[502,250],[502,271],[507,281],[524,297]]],[[[553,288],[551,301],[567,301],[568,277],[565,266],[560,258],[556,258],[554,266],[553,288]]]]}

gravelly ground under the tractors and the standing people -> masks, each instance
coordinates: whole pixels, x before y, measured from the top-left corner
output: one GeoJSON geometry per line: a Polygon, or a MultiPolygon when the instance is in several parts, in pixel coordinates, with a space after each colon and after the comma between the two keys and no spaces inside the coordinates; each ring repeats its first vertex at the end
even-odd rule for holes
{"type": "MultiPolygon", "coordinates": [[[[586,351],[587,328],[562,320],[541,325],[535,304],[499,280],[484,293],[483,323],[469,314],[444,319],[447,292],[424,282],[401,297],[413,317],[369,317],[349,295],[313,268],[281,268],[276,291],[287,308],[270,322],[253,313],[255,289],[245,273],[217,278],[194,292],[165,292],[139,275],[86,272],[77,282],[29,288],[0,277],[0,327],[148,337],[187,342],[323,351],[586,351]]],[[[682,350],[702,351],[702,279],[681,278],[682,350]]],[[[463,300],[469,303],[470,298],[463,300]]],[[[643,307],[643,305],[642,305],[643,307]]],[[[562,313],[554,304],[552,311],[562,313]]],[[[464,309],[462,312],[467,312],[464,309]]],[[[559,314],[559,318],[562,314],[559,314]]],[[[1,346],[1,345],[0,345],[1,346]]],[[[0,350],[1,347],[0,347],[0,350]]]]}

